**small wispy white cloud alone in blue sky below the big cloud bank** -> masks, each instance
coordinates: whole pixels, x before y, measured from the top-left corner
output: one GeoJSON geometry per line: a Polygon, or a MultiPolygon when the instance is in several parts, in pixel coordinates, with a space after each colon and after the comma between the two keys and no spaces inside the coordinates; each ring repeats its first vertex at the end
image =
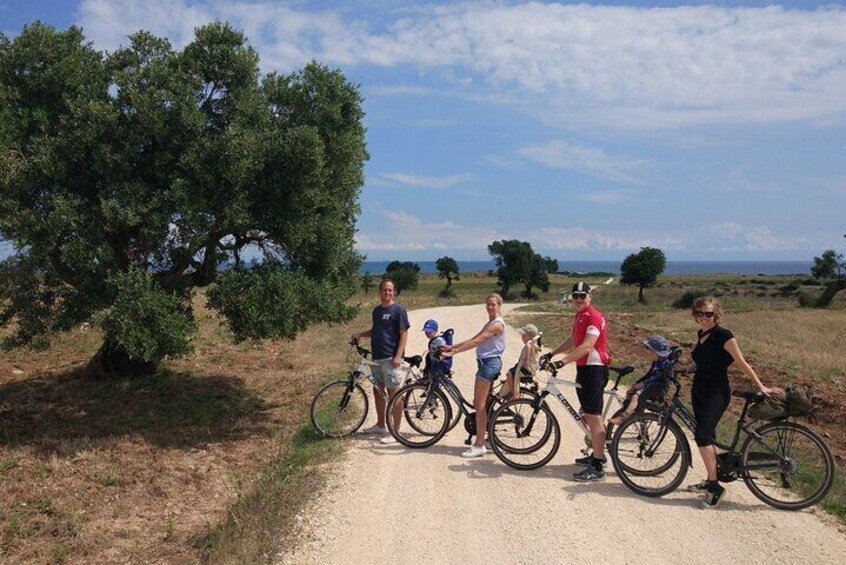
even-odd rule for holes
{"type": "Polygon", "coordinates": [[[610,157],[601,149],[563,141],[523,147],[517,153],[548,167],[576,171],[614,182],[637,182],[636,172],[646,163],[638,159],[610,157]]]}

